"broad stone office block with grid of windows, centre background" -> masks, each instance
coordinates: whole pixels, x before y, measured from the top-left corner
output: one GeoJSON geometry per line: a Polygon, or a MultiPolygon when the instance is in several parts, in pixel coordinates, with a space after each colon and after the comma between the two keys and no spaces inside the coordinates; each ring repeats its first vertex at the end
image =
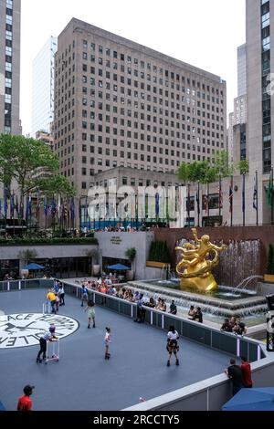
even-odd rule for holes
{"type": "Polygon", "coordinates": [[[55,150],[84,194],[116,166],[174,173],[227,143],[216,75],[73,18],[58,37],[55,150]]]}

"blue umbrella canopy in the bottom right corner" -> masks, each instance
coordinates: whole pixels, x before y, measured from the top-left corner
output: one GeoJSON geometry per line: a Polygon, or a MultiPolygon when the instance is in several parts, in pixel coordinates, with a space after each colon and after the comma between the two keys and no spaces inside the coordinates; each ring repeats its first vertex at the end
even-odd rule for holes
{"type": "Polygon", "coordinates": [[[241,389],[222,411],[274,411],[274,387],[241,389]]]}

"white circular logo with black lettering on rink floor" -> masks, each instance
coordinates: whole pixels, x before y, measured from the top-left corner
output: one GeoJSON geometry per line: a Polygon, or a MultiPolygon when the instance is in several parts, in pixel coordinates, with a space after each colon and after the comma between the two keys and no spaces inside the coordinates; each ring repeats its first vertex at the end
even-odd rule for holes
{"type": "Polygon", "coordinates": [[[77,320],[67,316],[42,313],[17,313],[0,316],[0,349],[15,349],[39,344],[50,323],[56,326],[58,339],[68,337],[79,328],[77,320]]]}

